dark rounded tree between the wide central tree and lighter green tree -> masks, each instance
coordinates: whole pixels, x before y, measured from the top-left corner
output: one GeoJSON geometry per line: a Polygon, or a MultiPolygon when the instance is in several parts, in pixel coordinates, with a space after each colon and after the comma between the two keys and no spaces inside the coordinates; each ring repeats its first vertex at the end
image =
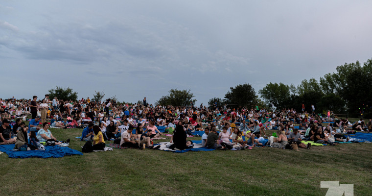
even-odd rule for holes
{"type": "Polygon", "coordinates": [[[251,84],[238,84],[235,88],[230,87],[230,91],[225,95],[228,104],[235,106],[255,106],[257,96],[251,84]]]}

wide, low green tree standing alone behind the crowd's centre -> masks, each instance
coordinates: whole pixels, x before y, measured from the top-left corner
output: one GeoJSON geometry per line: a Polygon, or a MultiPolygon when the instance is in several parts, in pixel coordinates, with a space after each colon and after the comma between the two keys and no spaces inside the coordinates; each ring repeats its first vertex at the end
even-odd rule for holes
{"type": "Polygon", "coordinates": [[[160,98],[155,102],[155,105],[186,106],[190,105],[191,102],[196,102],[196,99],[193,99],[194,97],[195,96],[190,93],[190,89],[188,91],[171,89],[169,95],[160,98]]]}

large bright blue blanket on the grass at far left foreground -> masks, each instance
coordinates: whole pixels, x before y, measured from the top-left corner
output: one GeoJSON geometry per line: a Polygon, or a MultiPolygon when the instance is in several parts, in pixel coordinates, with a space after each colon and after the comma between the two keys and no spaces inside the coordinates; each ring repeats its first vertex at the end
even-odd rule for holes
{"type": "Polygon", "coordinates": [[[69,147],[58,147],[58,146],[46,146],[45,151],[41,150],[28,150],[28,151],[13,151],[12,149],[14,148],[14,144],[10,145],[0,145],[0,151],[5,152],[8,154],[10,158],[30,158],[30,157],[37,157],[37,158],[58,158],[58,157],[63,157],[66,155],[83,155],[80,151],[71,149],[69,147]]]}

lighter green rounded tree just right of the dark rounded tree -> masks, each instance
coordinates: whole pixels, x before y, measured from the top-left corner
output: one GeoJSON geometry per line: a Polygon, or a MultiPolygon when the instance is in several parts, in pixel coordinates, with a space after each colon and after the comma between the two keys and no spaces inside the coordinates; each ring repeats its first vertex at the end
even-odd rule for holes
{"type": "Polygon", "coordinates": [[[259,90],[258,93],[261,98],[265,100],[266,105],[274,106],[278,108],[285,107],[285,103],[290,96],[290,87],[283,83],[269,83],[266,84],[263,89],[259,90]]]}

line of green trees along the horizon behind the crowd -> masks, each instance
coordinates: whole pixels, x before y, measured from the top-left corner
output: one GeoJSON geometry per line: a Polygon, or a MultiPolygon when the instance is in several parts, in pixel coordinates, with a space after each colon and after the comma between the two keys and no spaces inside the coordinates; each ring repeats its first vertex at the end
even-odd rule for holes
{"type": "MultiPolygon", "coordinates": [[[[305,110],[310,112],[311,105],[315,105],[317,113],[324,113],[327,110],[335,114],[355,114],[371,118],[372,98],[372,59],[360,64],[345,63],[338,66],[336,72],[326,73],[319,81],[315,78],[303,79],[296,87],[293,84],[269,83],[258,90],[259,96],[251,84],[238,84],[231,87],[224,98],[210,98],[208,105],[224,105],[230,107],[271,107],[277,109],[293,108],[301,111],[302,104],[305,110]]],[[[63,89],[49,90],[51,98],[57,97],[64,100],[77,100],[77,93],[69,87],[63,89]]],[[[97,92],[93,100],[100,102],[104,92],[97,92]]],[[[169,94],[155,101],[155,105],[185,106],[195,103],[196,99],[191,90],[171,89],[169,94]]],[[[116,96],[112,99],[116,100],[116,96]]],[[[118,101],[116,101],[118,102],[118,101]]],[[[119,102],[120,103],[120,102],[119,102]]],[[[125,103],[125,102],[124,102],[125,103]]],[[[141,100],[138,101],[141,103],[141,100]]]]}

